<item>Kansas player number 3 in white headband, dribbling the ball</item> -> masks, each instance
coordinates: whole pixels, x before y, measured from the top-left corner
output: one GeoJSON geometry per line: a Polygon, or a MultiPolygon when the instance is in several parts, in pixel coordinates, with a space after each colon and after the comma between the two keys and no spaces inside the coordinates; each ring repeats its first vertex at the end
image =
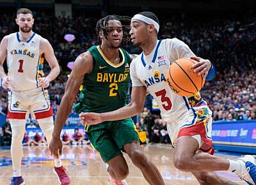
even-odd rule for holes
{"type": "Polygon", "coordinates": [[[237,160],[213,156],[211,140],[212,112],[200,93],[191,97],[173,93],[166,82],[170,64],[182,57],[199,61],[193,66],[198,75],[206,79],[214,77],[214,67],[209,60],[196,57],[188,45],[177,38],[157,40],[159,20],[154,13],[144,11],[131,20],[131,41],[143,52],[131,63],[131,103],[113,112],[82,113],[85,124],[125,119],[143,110],[147,91],[161,109],[161,116],[168,121],[167,128],[175,146],[173,163],[176,168],[192,172],[200,184],[234,184],[218,177],[216,170],[235,172],[251,184],[256,182],[256,166],[253,156],[237,160]]]}

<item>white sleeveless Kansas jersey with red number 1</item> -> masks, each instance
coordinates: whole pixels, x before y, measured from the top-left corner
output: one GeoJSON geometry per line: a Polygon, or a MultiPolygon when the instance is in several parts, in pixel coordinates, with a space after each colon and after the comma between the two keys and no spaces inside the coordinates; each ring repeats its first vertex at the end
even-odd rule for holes
{"type": "Polygon", "coordinates": [[[20,41],[19,33],[8,35],[7,66],[12,91],[27,91],[38,87],[38,77],[44,76],[40,40],[41,36],[35,33],[27,41],[20,41]]]}

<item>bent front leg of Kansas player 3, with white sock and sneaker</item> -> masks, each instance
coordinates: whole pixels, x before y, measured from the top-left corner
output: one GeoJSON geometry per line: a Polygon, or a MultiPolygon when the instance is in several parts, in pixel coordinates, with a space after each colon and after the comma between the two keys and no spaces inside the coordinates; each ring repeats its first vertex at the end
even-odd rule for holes
{"type": "MultiPolygon", "coordinates": [[[[207,152],[197,152],[198,149],[198,141],[195,138],[180,137],[177,140],[174,152],[173,163],[175,167],[185,172],[226,170],[235,172],[244,181],[255,184],[256,166],[255,159],[252,156],[245,156],[235,161],[213,156],[207,152]]],[[[225,181],[225,179],[222,179],[222,181],[225,181]]]]}

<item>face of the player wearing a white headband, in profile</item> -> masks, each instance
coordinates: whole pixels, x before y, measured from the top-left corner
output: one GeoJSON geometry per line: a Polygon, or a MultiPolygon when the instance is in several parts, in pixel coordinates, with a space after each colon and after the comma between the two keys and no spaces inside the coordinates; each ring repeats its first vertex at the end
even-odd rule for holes
{"type": "Polygon", "coordinates": [[[130,34],[133,45],[137,47],[143,46],[148,40],[147,24],[140,20],[132,21],[130,34]]]}

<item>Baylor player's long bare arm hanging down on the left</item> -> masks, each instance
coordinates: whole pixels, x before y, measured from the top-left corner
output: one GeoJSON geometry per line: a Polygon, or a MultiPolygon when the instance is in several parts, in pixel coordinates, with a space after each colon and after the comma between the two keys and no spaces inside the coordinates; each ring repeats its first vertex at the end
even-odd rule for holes
{"type": "Polygon", "coordinates": [[[71,112],[72,105],[79,91],[79,87],[83,82],[84,75],[86,73],[91,73],[92,70],[93,57],[90,52],[85,52],[77,57],[70,77],[68,77],[65,94],[61,100],[60,107],[58,108],[56,115],[56,120],[54,122],[52,140],[49,146],[51,154],[54,156],[58,156],[59,153],[61,154],[61,129],[63,128],[63,125],[71,112]]]}

